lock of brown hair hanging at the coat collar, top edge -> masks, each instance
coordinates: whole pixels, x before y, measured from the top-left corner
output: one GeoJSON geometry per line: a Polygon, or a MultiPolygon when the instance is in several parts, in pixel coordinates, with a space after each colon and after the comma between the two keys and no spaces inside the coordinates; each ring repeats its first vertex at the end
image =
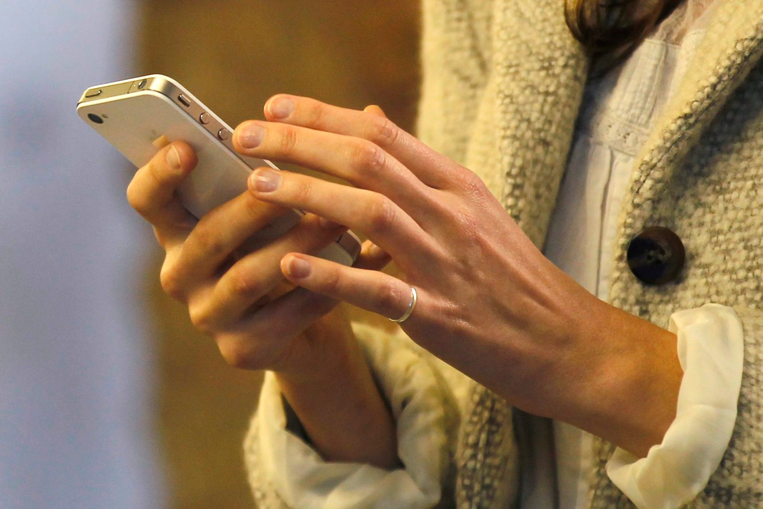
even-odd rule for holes
{"type": "Polygon", "coordinates": [[[596,73],[624,60],[681,0],[563,0],[572,35],[595,59],[596,73]]]}

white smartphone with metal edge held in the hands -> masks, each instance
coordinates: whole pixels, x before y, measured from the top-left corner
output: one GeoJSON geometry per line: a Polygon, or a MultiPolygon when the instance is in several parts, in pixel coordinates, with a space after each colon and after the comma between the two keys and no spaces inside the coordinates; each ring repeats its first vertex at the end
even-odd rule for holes
{"type": "MultiPolygon", "coordinates": [[[[178,188],[182,205],[199,218],[246,191],[253,169],[270,166],[266,159],[242,156],[233,150],[233,129],[168,76],[152,74],[85,90],[77,113],[122,155],[140,168],[170,142],[185,141],[198,156],[198,164],[178,188]]],[[[304,212],[294,210],[259,230],[246,243],[256,249],[282,236],[298,223],[304,212]]],[[[360,240],[348,231],[317,254],[351,266],[360,253],[360,240]]]]}

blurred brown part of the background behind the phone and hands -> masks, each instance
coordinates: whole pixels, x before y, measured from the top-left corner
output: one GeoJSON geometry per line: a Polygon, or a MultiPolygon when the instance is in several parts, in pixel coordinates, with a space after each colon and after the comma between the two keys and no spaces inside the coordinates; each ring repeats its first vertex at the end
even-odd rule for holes
{"type": "MultiPolygon", "coordinates": [[[[262,118],[277,92],[378,104],[407,129],[418,92],[417,0],[143,0],[138,72],[179,79],[228,124],[262,118]]],[[[259,372],[229,368],[146,268],[158,350],[159,423],[173,509],[253,507],[241,442],[259,372]]],[[[357,313],[356,313],[357,315],[357,313]]]]}

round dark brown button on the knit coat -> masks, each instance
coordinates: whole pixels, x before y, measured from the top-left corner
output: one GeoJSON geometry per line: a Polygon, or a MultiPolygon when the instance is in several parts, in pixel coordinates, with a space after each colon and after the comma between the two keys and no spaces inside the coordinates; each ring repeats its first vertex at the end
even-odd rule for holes
{"type": "Polygon", "coordinates": [[[628,245],[630,272],[647,285],[675,281],[685,261],[684,243],[668,228],[646,228],[628,245]]]}

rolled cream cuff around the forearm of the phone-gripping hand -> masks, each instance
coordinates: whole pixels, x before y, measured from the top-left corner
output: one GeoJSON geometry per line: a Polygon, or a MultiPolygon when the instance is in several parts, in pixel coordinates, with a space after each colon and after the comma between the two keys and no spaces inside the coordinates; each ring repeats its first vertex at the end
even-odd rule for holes
{"type": "Polygon", "coordinates": [[[439,501],[448,451],[443,395],[430,364],[392,339],[385,335],[362,345],[394,415],[404,469],[324,461],[287,429],[278,382],[266,373],[256,416],[260,462],[289,507],[418,509],[439,501]]]}

